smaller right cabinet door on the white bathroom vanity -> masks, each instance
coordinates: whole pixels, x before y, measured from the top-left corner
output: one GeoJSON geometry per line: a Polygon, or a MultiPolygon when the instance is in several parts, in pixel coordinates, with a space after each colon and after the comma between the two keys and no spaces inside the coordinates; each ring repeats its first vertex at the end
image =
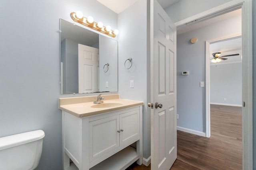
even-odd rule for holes
{"type": "Polygon", "coordinates": [[[139,140],[139,110],[120,114],[120,145],[139,140]]]}

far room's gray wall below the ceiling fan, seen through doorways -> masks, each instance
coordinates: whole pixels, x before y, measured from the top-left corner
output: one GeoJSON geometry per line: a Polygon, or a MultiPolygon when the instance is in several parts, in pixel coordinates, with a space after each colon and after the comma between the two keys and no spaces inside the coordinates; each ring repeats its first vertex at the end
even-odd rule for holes
{"type": "Polygon", "coordinates": [[[210,66],[210,103],[242,106],[242,62],[210,66]]]}

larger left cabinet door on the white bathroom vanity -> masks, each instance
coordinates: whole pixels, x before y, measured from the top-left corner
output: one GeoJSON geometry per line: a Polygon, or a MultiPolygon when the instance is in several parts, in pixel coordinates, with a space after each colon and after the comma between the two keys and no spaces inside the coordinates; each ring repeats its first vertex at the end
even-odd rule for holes
{"type": "Polygon", "coordinates": [[[89,122],[90,162],[119,147],[119,115],[89,122]]]}

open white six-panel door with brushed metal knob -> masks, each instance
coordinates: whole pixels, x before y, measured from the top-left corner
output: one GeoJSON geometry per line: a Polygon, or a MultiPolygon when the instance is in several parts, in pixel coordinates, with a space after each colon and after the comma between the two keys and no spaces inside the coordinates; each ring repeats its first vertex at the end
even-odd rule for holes
{"type": "Polygon", "coordinates": [[[156,0],[151,0],[152,14],[151,169],[169,170],[177,158],[176,26],[156,0]]]}

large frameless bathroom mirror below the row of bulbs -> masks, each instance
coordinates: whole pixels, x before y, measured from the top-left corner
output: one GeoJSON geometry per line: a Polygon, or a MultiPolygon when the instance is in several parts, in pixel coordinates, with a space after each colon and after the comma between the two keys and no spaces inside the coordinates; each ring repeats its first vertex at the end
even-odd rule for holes
{"type": "Polygon", "coordinates": [[[117,92],[118,42],[60,19],[61,94],[117,92]]]}

